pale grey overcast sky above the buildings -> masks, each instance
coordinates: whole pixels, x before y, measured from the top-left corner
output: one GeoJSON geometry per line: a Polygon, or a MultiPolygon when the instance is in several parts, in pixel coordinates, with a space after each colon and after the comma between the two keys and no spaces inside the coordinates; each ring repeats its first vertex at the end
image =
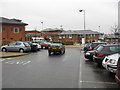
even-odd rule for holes
{"type": "Polygon", "coordinates": [[[118,24],[119,0],[0,0],[2,17],[21,19],[26,30],[60,28],[83,30],[83,12],[86,11],[86,29],[111,33],[118,24]],[[99,28],[100,26],[100,28],[99,28]]]}

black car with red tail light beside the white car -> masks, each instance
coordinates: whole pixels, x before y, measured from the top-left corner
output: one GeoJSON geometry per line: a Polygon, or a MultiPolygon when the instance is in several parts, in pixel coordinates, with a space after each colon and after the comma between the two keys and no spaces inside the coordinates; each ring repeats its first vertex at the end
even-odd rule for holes
{"type": "Polygon", "coordinates": [[[120,44],[108,44],[101,45],[93,56],[93,60],[98,64],[102,65],[102,61],[107,55],[115,54],[120,52],[120,44]]]}

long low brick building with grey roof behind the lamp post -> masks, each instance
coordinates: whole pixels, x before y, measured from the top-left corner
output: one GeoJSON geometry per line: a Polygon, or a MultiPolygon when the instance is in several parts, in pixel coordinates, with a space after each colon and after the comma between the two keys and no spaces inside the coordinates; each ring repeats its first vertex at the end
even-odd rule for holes
{"type": "Polygon", "coordinates": [[[58,34],[58,37],[59,41],[72,40],[77,43],[81,43],[82,38],[84,37],[86,38],[86,41],[98,41],[101,35],[103,35],[103,33],[92,30],[69,30],[58,34]]]}

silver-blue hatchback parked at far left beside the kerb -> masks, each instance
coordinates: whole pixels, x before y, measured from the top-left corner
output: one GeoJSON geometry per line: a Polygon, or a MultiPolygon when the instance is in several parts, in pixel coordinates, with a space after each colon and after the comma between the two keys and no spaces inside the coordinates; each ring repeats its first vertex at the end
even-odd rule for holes
{"type": "Polygon", "coordinates": [[[12,42],[1,47],[3,52],[6,51],[19,51],[21,53],[25,51],[31,51],[31,47],[27,42],[12,42]]]}

